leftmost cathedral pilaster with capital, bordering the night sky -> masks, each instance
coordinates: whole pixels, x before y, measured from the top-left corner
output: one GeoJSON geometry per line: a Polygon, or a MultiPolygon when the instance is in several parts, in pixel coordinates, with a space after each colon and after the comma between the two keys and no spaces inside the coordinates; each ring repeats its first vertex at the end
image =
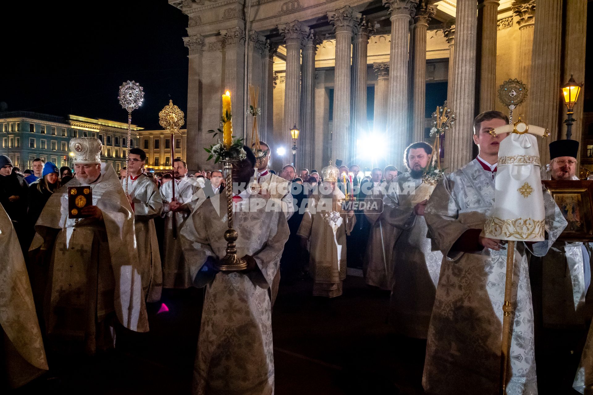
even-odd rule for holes
{"type": "MultiPolygon", "coordinates": [[[[196,36],[183,37],[183,44],[189,49],[189,73],[187,78],[187,111],[186,111],[186,127],[192,130],[187,137],[186,153],[187,167],[195,170],[199,168],[200,155],[203,150],[196,147],[204,146],[203,130],[202,130],[202,85],[200,79],[202,78],[202,52],[204,45],[204,37],[197,34],[196,36]]],[[[165,142],[162,142],[163,146],[165,142]]],[[[140,145],[139,145],[140,146],[140,145]]],[[[151,159],[154,158],[154,155],[151,159]]],[[[161,159],[162,160],[162,159],[161,159]]],[[[171,159],[173,160],[173,159],[171,159]]]]}

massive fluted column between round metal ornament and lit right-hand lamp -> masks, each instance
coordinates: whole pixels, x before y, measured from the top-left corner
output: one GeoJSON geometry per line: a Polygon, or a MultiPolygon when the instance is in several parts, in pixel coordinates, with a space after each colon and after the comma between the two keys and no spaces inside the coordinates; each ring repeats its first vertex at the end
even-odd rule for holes
{"type": "MultiPolygon", "coordinates": [[[[562,47],[562,2],[537,0],[537,24],[534,27],[531,82],[528,94],[527,121],[550,130],[551,142],[558,137],[560,111],[560,49],[562,47]]],[[[550,161],[548,144],[540,145],[541,163],[550,161]]]]}

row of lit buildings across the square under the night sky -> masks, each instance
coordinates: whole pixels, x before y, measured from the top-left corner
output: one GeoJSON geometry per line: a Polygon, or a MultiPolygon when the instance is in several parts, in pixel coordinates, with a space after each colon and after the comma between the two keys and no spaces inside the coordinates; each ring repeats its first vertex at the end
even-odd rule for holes
{"type": "MultiPolygon", "coordinates": [[[[80,115],[58,115],[11,111],[0,113],[0,155],[6,155],[15,166],[30,169],[33,160],[41,158],[56,166],[71,166],[69,141],[73,137],[96,137],[103,143],[101,161],[119,172],[125,166],[127,123],[87,118],[80,115]]],[[[185,159],[185,129],[175,140],[176,158],[185,159]]],[[[132,125],[130,147],[146,152],[146,168],[152,171],[171,169],[170,134],[163,130],[144,130],[132,125]]]]}

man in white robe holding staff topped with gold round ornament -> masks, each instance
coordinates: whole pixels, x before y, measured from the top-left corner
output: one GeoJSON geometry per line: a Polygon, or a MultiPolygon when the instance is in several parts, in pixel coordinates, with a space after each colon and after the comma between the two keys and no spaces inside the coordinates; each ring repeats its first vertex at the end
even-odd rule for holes
{"type": "Polygon", "coordinates": [[[179,232],[187,217],[195,208],[196,202],[204,200],[198,191],[204,186],[203,178],[189,178],[184,160],[173,160],[174,179],[161,187],[163,204],[161,216],[165,219],[165,232],[162,248],[162,286],[164,288],[189,288],[192,286],[189,268],[183,257],[179,232]],[[173,201],[175,183],[175,201],[173,201]],[[201,198],[200,198],[201,197],[201,198]],[[175,224],[173,224],[175,223],[175,224]],[[174,229],[175,227],[175,229],[174,229]]]}

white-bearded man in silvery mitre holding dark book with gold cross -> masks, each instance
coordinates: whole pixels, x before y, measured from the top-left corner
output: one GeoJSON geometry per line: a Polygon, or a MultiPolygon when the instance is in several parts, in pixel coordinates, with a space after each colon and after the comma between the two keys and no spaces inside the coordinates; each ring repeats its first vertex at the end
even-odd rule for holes
{"type": "Polygon", "coordinates": [[[50,346],[62,352],[113,348],[116,321],[148,331],[134,213],[113,167],[101,163],[102,145],[70,140],[75,178],[49,198],[31,244],[49,255],[45,326],[50,346]],[[68,187],[90,190],[84,218],[69,218],[68,187]]]}

